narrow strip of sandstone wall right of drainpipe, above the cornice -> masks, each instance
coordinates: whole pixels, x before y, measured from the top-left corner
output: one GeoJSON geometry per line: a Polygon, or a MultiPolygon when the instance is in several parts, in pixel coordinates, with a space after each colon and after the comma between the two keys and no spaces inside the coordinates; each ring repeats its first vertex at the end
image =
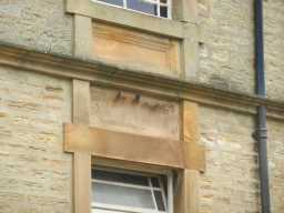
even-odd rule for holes
{"type": "Polygon", "coordinates": [[[284,1],[264,1],[264,41],[267,97],[284,100],[284,1]]]}

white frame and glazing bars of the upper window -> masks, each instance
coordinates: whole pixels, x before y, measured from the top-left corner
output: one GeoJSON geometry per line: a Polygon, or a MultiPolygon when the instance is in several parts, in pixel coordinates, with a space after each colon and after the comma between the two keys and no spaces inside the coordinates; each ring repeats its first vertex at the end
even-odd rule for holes
{"type": "Polygon", "coordinates": [[[105,4],[105,6],[115,7],[115,8],[122,8],[124,10],[146,14],[146,16],[151,16],[151,17],[158,17],[158,18],[161,18],[161,19],[172,19],[172,0],[168,0],[168,3],[162,3],[161,0],[145,0],[149,3],[156,4],[156,8],[158,8],[158,11],[156,11],[158,14],[156,16],[128,8],[126,7],[126,0],[123,0],[123,6],[122,7],[116,6],[116,4],[106,3],[106,2],[103,2],[103,1],[100,1],[100,0],[91,0],[91,1],[95,2],[95,3],[101,3],[101,4],[105,4]],[[168,17],[166,18],[161,17],[161,7],[160,6],[163,6],[163,7],[166,8],[166,11],[168,11],[168,17]]]}

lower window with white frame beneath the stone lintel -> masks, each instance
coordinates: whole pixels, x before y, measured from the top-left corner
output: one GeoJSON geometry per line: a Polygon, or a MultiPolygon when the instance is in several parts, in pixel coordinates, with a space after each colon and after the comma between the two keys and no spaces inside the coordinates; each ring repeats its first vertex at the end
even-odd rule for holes
{"type": "Polygon", "coordinates": [[[94,213],[172,213],[171,175],[92,169],[94,213]]]}

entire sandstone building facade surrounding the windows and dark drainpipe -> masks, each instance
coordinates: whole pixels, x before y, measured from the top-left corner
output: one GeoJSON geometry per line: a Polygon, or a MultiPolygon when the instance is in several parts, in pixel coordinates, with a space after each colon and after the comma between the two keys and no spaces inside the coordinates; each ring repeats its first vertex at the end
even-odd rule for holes
{"type": "Polygon", "coordinates": [[[0,213],[91,212],[97,165],[174,172],[174,213],[258,213],[258,105],[283,212],[284,1],[264,1],[265,99],[254,0],[171,10],[0,1],[0,213]]]}

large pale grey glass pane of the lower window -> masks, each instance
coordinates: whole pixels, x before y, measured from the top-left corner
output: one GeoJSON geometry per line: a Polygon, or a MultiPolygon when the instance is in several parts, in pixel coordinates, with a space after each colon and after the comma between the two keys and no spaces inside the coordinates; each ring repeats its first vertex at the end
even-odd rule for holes
{"type": "Polygon", "coordinates": [[[154,209],[150,190],[125,187],[120,185],[108,185],[104,183],[92,183],[93,202],[154,209]]]}

